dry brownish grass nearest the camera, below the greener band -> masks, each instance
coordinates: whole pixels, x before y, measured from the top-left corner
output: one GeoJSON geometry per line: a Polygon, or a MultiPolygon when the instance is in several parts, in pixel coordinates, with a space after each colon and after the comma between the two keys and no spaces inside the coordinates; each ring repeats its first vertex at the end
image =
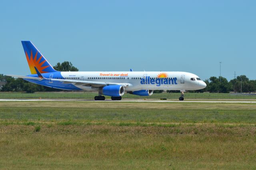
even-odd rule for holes
{"type": "Polygon", "coordinates": [[[0,168],[256,167],[255,126],[35,126],[0,126],[0,168]]]}

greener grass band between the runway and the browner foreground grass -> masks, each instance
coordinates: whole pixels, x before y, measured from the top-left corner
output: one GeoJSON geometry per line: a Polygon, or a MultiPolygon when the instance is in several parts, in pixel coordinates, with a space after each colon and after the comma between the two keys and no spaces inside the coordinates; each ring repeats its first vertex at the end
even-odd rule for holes
{"type": "Polygon", "coordinates": [[[102,123],[255,123],[256,104],[1,102],[0,120],[102,123]],[[15,103],[15,107],[13,106],[15,103]],[[2,106],[2,107],[1,107],[2,106]]]}

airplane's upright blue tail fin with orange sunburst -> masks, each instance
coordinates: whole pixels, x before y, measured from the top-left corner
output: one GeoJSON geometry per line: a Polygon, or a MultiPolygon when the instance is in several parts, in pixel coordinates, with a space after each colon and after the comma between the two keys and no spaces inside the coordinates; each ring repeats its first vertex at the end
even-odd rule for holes
{"type": "Polygon", "coordinates": [[[40,73],[56,72],[44,56],[30,41],[21,41],[31,74],[36,74],[35,67],[40,73]]]}

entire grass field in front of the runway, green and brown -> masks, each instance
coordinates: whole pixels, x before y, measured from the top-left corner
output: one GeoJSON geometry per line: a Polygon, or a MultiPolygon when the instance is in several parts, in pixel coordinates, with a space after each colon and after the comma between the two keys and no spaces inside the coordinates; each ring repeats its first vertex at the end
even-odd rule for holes
{"type": "Polygon", "coordinates": [[[256,104],[0,102],[1,169],[255,169],[256,104]]]}

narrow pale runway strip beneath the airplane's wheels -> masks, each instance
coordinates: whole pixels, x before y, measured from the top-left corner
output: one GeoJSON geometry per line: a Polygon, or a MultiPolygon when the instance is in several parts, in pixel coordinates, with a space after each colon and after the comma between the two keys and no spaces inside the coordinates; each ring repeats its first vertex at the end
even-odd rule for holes
{"type": "Polygon", "coordinates": [[[82,101],[82,102],[159,102],[159,103],[256,103],[256,100],[193,100],[193,99],[185,99],[184,101],[178,100],[129,100],[122,99],[121,101],[112,101],[110,99],[106,99],[105,101],[94,101],[90,99],[0,99],[1,101],[82,101]]]}

